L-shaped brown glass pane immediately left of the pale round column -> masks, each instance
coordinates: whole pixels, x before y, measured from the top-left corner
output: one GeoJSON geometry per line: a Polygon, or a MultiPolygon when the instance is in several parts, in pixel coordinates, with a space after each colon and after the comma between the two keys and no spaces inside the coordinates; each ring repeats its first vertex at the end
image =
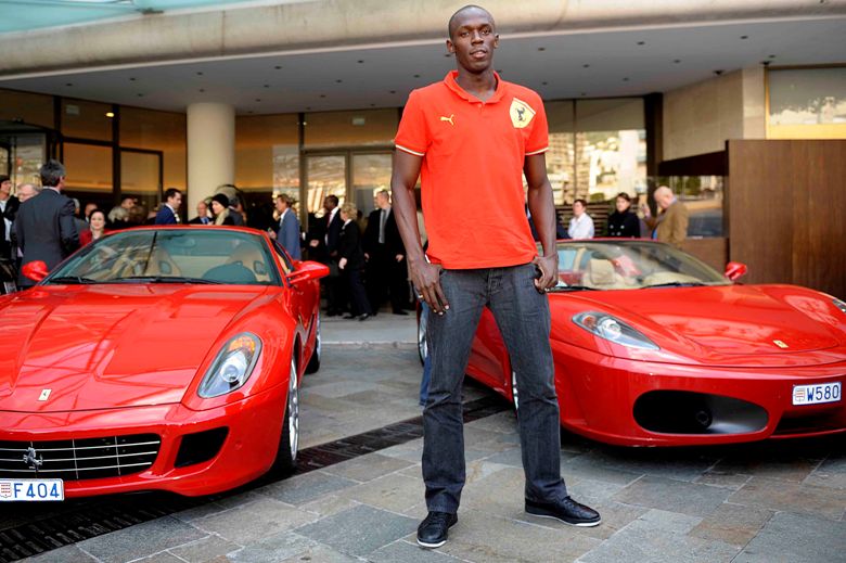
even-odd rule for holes
{"type": "Polygon", "coordinates": [[[185,115],[120,107],[120,146],[162,151],[165,188],[185,190],[185,115]]]}

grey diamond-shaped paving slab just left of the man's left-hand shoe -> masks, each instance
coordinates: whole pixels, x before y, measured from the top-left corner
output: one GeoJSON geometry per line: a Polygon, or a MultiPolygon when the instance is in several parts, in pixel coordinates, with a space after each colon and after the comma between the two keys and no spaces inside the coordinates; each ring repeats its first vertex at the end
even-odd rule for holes
{"type": "Polygon", "coordinates": [[[418,522],[386,510],[358,506],[308,524],[296,532],[355,556],[367,556],[416,530],[418,522]]]}

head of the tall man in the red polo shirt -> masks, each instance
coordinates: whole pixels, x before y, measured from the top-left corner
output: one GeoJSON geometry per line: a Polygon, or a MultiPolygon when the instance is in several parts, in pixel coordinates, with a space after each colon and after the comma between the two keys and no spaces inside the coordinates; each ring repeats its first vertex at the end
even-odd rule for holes
{"type": "Polygon", "coordinates": [[[493,64],[493,49],[499,46],[497,24],[490,12],[478,5],[465,5],[449,18],[447,51],[456,55],[456,63],[474,74],[493,64]]]}

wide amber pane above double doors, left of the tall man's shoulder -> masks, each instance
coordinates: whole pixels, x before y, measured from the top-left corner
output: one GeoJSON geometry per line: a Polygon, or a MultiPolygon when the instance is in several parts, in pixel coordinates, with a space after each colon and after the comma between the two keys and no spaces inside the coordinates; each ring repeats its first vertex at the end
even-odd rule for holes
{"type": "Polygon", "coordinates": [[[399,116],[394,108],[306,114],[305,145],[309,149],[389,145],[398,125],[399,116]]]}

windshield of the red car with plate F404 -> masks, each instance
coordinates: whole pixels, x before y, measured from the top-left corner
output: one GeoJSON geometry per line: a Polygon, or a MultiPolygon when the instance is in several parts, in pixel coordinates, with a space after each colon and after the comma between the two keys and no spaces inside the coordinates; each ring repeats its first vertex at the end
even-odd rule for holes
{"type": "Polygon", "coordinates": [[[223,229],[130,229],[80,249],[44,280],[59,283],[279,284],[257,234],[223,229]]]}

